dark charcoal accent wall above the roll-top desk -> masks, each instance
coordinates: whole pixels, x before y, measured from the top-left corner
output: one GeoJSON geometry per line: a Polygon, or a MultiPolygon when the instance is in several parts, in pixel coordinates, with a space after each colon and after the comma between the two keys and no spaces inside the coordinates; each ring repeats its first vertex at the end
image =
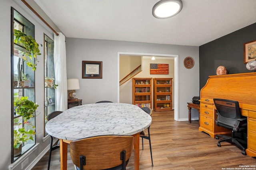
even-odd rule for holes
{"type": "Polygon", "coordinates": [[[228,74],[250,72],[244,64],[244,43],[255,39],[256,23],[201,45],[199,47],[200,89],[206,84],[208,76],[216,75],[218,66],[225,66],[228,74]]]}

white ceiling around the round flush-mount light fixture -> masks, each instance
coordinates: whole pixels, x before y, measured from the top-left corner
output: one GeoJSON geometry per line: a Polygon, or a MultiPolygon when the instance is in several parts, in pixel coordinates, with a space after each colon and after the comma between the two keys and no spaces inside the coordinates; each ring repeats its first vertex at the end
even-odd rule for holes
{"type": "Polygon", "coordinates": [[[34,0],[66,37],[200,46],[256,23],[256,0],[182,0],[168,19],[159,0],[34,0]]]}

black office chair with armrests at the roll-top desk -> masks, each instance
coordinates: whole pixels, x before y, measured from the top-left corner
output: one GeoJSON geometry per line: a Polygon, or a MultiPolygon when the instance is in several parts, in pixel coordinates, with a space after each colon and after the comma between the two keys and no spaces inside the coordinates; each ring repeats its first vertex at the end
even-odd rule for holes
{"type": "Polygon", "coordinates": [[[221,142],[229,142],[236,144],[242,150],[242,154],[246,155],[247,148],[247,119],[240,113],[239,104],[237,101],[225,99],[213,99],[217,109],[216,125],[232,130],[231,137],[225,135],[216,135],[224,138],[218,141],[217,146],[221,147],[221,142]]]}

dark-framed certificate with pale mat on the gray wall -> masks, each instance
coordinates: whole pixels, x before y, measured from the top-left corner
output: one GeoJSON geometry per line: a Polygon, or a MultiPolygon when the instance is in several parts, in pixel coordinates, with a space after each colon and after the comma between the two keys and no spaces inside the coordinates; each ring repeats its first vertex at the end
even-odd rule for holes
{"type": "Polygon", "coordinates": [[[83,61],[82,78],[102,78],[102,61],[83,61]]]}

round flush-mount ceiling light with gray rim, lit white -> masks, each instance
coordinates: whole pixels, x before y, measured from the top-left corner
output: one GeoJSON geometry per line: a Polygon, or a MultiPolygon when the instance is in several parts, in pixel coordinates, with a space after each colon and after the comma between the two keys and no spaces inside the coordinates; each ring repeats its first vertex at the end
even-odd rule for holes
{"type": "Polygon", "coordinates": [[[154,17],[166,19],[177,15],[182,10],[181,0],[160,0],[152,9],[154,17]]]}

